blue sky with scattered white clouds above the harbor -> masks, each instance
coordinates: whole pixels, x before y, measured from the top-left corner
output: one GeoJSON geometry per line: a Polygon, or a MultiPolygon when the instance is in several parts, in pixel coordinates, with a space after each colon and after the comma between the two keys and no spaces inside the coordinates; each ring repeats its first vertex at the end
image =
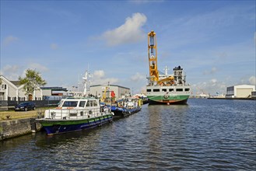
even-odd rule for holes
{"type": "Polygon", "coordinates": [[[181,65],[198,93],[255,85],[255,1],[1,2],[0,71],[9,80],[35,69],[46,86],[146,89],[147,33],[156,32],[158,69],[181,65]]]}

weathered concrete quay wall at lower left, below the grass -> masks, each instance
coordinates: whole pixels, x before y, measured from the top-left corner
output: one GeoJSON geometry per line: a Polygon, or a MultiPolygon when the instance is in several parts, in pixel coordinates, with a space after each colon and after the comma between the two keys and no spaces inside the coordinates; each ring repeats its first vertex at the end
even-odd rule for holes
{"type": "Polygon", "coordinates": [[[6,138],[14,138],[23,134],[30,134],[37,130],[40,130],[40,124],[35,122],[35,118],[1,121],[0,141],[6,138]]]}

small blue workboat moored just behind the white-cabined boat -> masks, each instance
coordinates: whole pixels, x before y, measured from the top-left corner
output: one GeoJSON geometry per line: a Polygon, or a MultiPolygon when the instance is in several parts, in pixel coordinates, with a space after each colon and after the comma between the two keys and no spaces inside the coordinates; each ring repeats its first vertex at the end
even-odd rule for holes
{"type": "Polygon", "coordinates": [[[111,106],[114,118],[128,117],[133,113],[142,110],[142,100],[139,98],[128,97],[126,99],[117,100],[116,105],[111,106]]]}

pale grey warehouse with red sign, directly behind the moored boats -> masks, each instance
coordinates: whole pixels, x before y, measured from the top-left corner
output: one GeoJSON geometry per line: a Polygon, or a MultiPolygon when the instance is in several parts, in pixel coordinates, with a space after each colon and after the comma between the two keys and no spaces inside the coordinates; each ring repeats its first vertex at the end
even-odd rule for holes
{"type": "Polygon", "coordinates": [[[124,96],[130,96],[130,89],[124,86],[117,86],[117,85],[95,85],[89,86],[89,94],[93,96],[102,97],[104,96],[111,96],[110,93],[114,92],[115,99],[124,98],[124,96]]]}

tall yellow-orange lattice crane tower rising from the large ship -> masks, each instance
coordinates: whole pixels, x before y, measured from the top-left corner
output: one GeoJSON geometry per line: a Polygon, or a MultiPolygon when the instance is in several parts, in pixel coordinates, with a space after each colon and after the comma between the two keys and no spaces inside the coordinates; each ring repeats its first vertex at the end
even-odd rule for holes
{"type": "Polygon", "coordinates": [[[156,51],[156,33],[151,31],[148,33],[148,55],[149,55],[149,80],[157,82],[159,73],[157,70],[157,51],[156,51]]]}

